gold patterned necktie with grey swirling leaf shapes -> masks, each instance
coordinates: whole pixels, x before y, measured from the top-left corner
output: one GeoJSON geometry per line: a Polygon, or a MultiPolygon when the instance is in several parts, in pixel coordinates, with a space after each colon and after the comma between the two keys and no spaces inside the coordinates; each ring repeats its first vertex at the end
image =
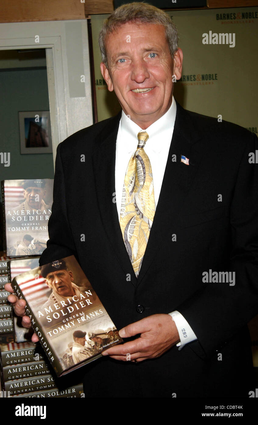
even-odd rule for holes
{"type": "Polygon", "coordinates": [[[136,277],[139,275],[155,214],[153,176],[150,159],[144,151],[146,131],[137,135],[138,146],[125,174],[120,227],[136,277]]]}

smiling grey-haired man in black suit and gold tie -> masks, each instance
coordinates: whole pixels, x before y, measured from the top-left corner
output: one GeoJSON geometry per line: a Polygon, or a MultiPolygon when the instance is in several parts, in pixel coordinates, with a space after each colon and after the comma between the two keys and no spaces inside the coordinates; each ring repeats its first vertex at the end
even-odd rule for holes
{"type": "MultiPolygon", "coordinates": [[[[58,146],[50,240],[40,260],[74,254],[125,340],[87,365],[86,397],[248,397],[246,324],[258,302],[258,176],[248,158],[257,138],[175,102],[183,55],[159,9],[121,6],[100,47],[122,113],[58,146]],[[146,132],[142,153],[137,135],[146,132]],[[140,259],[138,243],[130,247],[120,227],[124,176],[137,155],[150,196],[154,187],[152,201],[144,196],[155,203],[140,259]]],[[[143,225],[145,212],[134,203],[143,225]]]]}

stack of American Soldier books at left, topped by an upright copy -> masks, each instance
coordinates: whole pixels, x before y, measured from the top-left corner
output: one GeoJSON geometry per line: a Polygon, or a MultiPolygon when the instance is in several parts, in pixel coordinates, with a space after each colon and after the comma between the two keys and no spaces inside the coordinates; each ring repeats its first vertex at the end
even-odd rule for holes
{"type": "MultiPolygon", "coordinates": [[[[5,284],[39,267],[46,248],[53,179],[5,180],[2,185],[4,248],[0,256],[0,386],[6,397],[81,397],[75,374],[57,378],[40,344],[31,342],[7,297],[5,284]],[[72,385],[74,384],[74,385],[72,385]]],[[[1,393],[2,394],[2,393],[1,393]]]]}

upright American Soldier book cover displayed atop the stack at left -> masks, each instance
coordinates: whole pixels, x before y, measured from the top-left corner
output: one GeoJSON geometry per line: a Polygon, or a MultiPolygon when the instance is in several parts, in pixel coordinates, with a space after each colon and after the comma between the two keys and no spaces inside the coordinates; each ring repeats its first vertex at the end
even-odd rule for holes
{"type": "Polygon", "coordinates": [[[42,254],[53,202],[53,179],[2,181],[4,241],[8,257],[42,254]]]}

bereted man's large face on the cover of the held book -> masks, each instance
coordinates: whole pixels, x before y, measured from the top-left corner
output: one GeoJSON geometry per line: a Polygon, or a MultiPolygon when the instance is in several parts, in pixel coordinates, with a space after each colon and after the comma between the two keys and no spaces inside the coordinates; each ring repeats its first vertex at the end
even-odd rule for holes
{"type": "Polygon", "coordinates": [[[72,280],[72,272],[63,269],[48,273],[45,282],[62,297],[72,297],[74,295],[72,280]]]}

